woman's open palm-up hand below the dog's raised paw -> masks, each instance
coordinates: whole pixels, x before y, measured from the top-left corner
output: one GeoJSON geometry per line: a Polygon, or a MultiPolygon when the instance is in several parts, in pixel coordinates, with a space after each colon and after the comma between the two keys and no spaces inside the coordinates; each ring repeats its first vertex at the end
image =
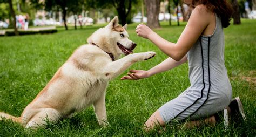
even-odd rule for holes
{"type": "Polygon", "coordinates": [[[124,76],[121,80],[139,80],[149,77],[149,73],[144,70],[130,70],[131,73],[127,73],[128,76],[124,76]]]}

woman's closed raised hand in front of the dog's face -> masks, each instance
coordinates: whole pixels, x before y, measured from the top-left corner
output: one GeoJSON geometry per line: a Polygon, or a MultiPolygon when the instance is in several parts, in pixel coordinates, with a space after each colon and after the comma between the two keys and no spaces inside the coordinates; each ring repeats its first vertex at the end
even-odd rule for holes
{"type": "Polygon", "coordinates": [[[140,37],[149,39],[149,36],[153,33],[153,30],[151,30],[147,25],[142,23],[136,27],[136,33],[140,37]]]}

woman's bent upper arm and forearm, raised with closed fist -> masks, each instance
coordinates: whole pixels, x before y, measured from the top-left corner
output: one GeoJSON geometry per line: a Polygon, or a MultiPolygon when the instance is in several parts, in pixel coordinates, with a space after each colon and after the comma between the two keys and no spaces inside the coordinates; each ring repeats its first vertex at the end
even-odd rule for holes
{"type": "Polygon", "coordinates": [[[159,47],[167,56],[179,61],[190,48],[196,43],[201,33],[205,30],[210,19],[212,12],[208,11],[204,5],[198,5],[192,12],[190,19],[181,33],[177,43],[171,43],[161,38],[157,33],[153,32],[148,26],[140,24],[136,28],[138,36],[151,40],[159,47]]]}

